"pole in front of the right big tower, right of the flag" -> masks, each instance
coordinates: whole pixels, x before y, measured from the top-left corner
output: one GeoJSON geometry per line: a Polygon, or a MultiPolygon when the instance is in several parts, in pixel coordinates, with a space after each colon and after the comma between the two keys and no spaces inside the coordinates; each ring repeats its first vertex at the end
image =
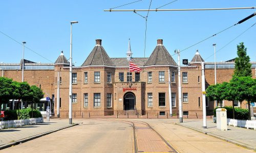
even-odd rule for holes
{"type": "Polygon", "coordinates": [[[180,77],[180,50],[175,49],[174,53],[178,54],[178,80],[179,80],[179,116],[180,116],[180,123],[183,122],[183,111],[182,111],[182,101],[181,101],[181,77],[180,77]]]}

